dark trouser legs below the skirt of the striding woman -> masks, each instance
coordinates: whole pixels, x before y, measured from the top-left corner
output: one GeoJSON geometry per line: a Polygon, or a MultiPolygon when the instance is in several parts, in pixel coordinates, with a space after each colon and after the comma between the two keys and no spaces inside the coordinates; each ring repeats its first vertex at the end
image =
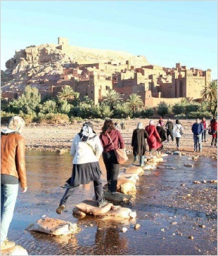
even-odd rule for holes
{"type": "MultiPolygon", "coordinates": [[[[101,203],[103,200],[103,186],[101,179],[98,181],[93,181],[94,183],[94,192],[96,196],[97,203],[101,203]]],[[[63,198],[60,200],[60,205],[67,205],[69,198],[73,196],[73,193],[75,192],[75,188],[77,188],[79,185],[70,186],[66,189],[65,194],[63,195],[63,198]]]]}

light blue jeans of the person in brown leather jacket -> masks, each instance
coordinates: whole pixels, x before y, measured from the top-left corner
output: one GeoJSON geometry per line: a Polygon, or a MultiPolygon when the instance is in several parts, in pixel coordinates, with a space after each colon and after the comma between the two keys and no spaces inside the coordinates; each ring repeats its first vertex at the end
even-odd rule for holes
{"type": "Polygon", "coordinates": [[[1,184],[1,243],[8,235],[13,211],[18,197],[19,184],[1,184]]]}

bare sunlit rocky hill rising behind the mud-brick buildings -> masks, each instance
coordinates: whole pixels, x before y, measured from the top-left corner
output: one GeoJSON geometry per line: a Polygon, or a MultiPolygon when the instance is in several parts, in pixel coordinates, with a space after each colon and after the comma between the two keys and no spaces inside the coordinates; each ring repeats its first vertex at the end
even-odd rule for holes
{"type": "MultiPolygon", "coordinates": [[[[144,56],[134,56],[123,51],[85,49],[77,46],[41,44],[28,46],[16,51],[15,56],[6,62],[6,70],[1,70],[1,91],[23,90],[30,84],[40,89],[39,80],[55,81],[63,68],[73,67],[73,63],[115,62],[113,72],[120,71],[119,63],[129,60],[131,65],[148,65],[144,56]]],[[[111,71],[112,72],[112,71],[111,71]]],[[[46,89],[46,88],[44,88],[46,89]]]]}

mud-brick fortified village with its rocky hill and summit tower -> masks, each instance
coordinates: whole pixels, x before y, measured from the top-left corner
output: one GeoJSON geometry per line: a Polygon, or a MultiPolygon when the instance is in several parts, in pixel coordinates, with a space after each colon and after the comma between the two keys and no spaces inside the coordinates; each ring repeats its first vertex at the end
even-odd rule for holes
{"type": "Polygon", "coordinates": [[[145,106],[153,107],[160,101],[197,101],[200,91],[211,82],[211,70],[188,69],[180,63],[175,68],[150,65],[144,56],[70,46],[63,37],[58,37],[58,44],[15,51],[6,68],[1,71],[1,91],[8,99],[23,94],[27,85],[37,87],[41,96],[56,96],[69,85],[95,104],[114,89],[124,100],[137,94],[145,106]]]}

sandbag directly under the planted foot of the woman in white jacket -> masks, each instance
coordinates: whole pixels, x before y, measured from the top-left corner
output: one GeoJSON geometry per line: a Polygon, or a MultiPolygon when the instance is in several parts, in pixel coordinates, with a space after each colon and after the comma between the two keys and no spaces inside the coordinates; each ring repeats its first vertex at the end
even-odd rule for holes
{"type": "Polygon", "coordinates": [[[106,203],[102,207],[98,207],[96,200],[83,200],[81,203],[75,206],[87,215],[102,215],[110,210],[113,203],[106,203]]]}

